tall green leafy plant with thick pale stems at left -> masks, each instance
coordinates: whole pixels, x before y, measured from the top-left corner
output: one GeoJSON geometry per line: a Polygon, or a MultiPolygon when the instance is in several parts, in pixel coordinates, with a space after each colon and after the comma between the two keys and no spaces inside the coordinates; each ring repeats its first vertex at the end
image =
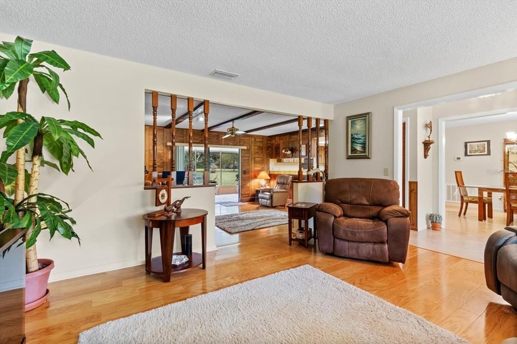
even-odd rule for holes
{"type": "MultiPolygon", "coordinates": [[[[36,239],[43,229],[52,238],[57,232],[67,239],[79,236],[72,228],[75,221],[69,216],[68,204],[59,198],[39,192],[40,168],[50,166],[68,175],[73,170],[73,159],[88,160],[76,138],[95,148],[94,138],[100,134],[79,121],[56,119],[50,116],[39,120],[27,113],[27,84],[34,79],[42,93],[59,103],[61,93],[70,102],[54,68],[67,71],[68,63],[55,51],[30,53],[32,40],[17,37],[14,42],[0,44],[0,98],[9,98],[18,85],[18,109],[0,115],[0,129],[4,128],[6,149],[0,155],[0,213],[3,228],[27,228],[27,272],[38,270],[36,239]],[[44,158],[44,148],[53,160],[44,158]],[[31,171],[25,169],[25,154],[31,152],[31,171]],[[16,153],[16,164],[9,158],[16,153]],[[25,195],[27,192],[27,196],[25,195]],[[9,198],[14,194],[14,199],[9,198]]],[[[90,167],[88,163],[88,167],[90,167]]],[[[91,167],[90,167],[91,169],[91,167]]]]}

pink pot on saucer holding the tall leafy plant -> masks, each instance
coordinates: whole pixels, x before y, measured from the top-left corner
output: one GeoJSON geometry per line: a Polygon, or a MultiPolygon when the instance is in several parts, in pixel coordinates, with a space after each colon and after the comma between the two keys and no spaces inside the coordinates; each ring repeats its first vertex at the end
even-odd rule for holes
{"type": "Polygon", "coordinates": [[[38,259],[38,263],[46,266],[25,275],[25,311],[47,302],[49,296],[47,285],[50,271],[54,269],[54,261],[52,259],[38,259]]]}

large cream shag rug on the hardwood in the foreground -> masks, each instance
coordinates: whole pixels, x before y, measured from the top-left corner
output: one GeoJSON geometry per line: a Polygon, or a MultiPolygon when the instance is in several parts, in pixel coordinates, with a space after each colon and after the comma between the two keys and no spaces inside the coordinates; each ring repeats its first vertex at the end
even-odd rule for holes
{"type": "Polygon", "coordinates": [[[79,344],[466,343],[310,265],[93,327],[79,344]]]}

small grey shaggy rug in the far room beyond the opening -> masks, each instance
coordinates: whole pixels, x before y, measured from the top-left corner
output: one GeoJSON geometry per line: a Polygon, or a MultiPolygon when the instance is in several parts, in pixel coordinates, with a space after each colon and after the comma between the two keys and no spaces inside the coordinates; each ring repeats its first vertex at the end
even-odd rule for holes
{"type": "Polygon", "coordinates": [[[253,210],[238,214],[216,216],[216,226],[229,233],[285,225],[287,221],[287,212],[274,209],[253,210]]]}

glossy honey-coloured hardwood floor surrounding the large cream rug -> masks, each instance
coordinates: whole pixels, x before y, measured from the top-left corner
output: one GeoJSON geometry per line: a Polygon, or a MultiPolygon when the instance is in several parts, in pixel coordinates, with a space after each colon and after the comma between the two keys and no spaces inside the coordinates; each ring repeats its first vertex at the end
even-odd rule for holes
{"type": "Polygon", "coordinates": [[[51,283],[49,302],[26,313],[28,343],[74,343],[80,332],[103,322],[302,264],[341,278],[470,342],[498,343],[517,337],[517,311],[486,288],[481,263],[414,246],[409,246],[403,265],[343,259],[323,255],[313,245],[308,249],[288,246],[282,228],[252,230],[240,233],[239,238],[238,244],[210,252],[206,270],[174,275],[171,283],[146,274],[144,265],[51,283]]]}

